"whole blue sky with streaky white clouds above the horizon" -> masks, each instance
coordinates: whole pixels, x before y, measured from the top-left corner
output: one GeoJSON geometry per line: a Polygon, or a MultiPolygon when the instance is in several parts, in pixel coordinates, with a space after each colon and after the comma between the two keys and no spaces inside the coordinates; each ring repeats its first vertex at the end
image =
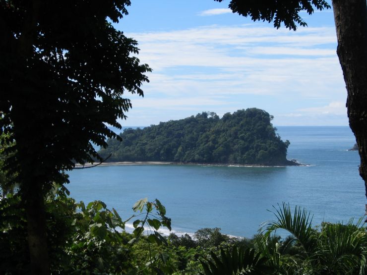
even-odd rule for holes
{"type": "Polygon", "coordinates": [[[144,97],[127,94],[122,126],[149,126],[202,111],[259,108],[276,126],[348,125],[332,10],[290,31],[234,14],[229,0],[131,0],[115,24],[153,69],[144,97]]]}

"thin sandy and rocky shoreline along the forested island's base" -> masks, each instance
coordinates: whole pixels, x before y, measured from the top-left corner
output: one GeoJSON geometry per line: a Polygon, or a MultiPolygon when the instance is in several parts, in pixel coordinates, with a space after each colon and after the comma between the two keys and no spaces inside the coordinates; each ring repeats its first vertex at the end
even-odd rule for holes
{"type": "Polygon", "coordinates": [[[289,161],[285,165],[258,165],[258,164],[206,164],[206,163],[175,163],[175,162],[105,162],[105,163],[86,163],[85,165],[76,164],[78,168],[89,168],[93,166],[124,166],[124,165],[199,165],[199,166],[228,166],[228,167],[287,167],[287,166],[308,166],[297,163],[296,161],[289,161]]]}

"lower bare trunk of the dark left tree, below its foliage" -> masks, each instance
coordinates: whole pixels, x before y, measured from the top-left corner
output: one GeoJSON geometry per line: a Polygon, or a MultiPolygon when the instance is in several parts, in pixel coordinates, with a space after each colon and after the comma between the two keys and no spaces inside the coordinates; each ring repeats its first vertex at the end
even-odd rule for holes
{"type": "Polygon", "coordinates": [[[46,216],[42,188],[34,183],[23,196],[27,217],[28,247],[32,275],[49,275],[46,216]]]}

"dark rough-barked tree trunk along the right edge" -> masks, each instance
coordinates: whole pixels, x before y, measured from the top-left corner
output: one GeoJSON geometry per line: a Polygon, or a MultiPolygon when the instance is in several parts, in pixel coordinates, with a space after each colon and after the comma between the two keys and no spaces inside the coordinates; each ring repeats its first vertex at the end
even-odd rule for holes
{"type": "Polygon", "coordinates": [[[333,0],[332,3],[337,54],[348,92],[349,125],[359,147],[360,175],[365,181],[367,197],[367,4],[366,0],[333,0]]]}

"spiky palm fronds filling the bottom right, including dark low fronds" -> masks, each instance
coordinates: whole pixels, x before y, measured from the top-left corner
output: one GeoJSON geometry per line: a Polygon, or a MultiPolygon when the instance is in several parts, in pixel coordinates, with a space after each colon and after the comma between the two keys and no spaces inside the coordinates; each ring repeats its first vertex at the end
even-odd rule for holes
{"type": "Polygon", "coordinates": [[[346,224],[323,222],[317,230],[304,208],[296,206],[292,211],[289,204],[283,203],[274,209],[277,219],[260,228],[254,239],[255,249],[243,252],[235,245],[232,253],[221,249],[220,256],[211,251],[211,260],[200,260],[205,275],[365,274],[367,234],[362,219],[351,219],[346,224]],[[289,235],[281,238],[275,235],[277,230],[288,231],[289,235]]]}

